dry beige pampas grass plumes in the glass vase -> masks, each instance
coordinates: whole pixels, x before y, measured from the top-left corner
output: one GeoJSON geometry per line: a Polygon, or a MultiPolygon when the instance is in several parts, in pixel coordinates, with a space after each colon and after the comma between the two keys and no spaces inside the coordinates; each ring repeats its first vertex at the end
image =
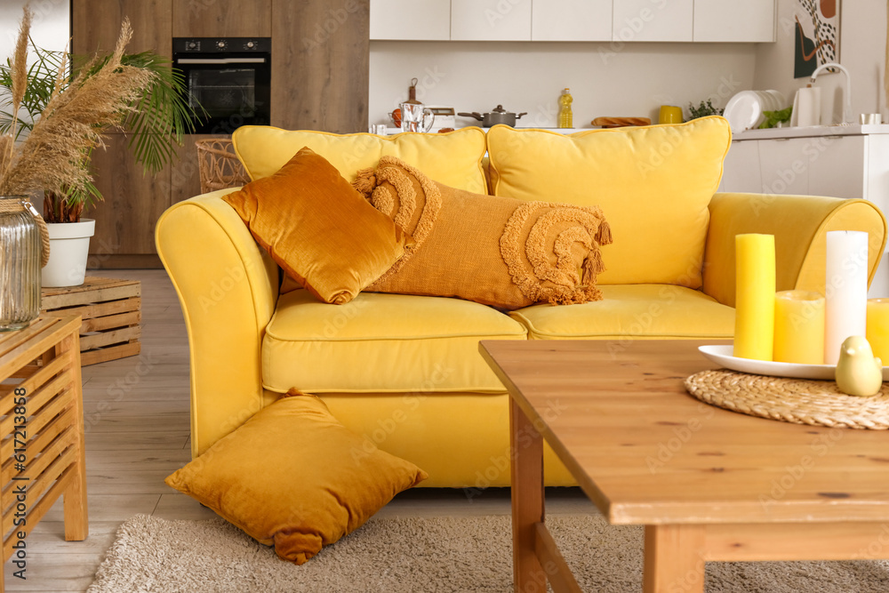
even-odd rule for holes
{"type": "MultiPolygon", "coordinates": [[[[28,33],[31,12],[26,6],[12,57],[12,114],[18,113],[28,84],[28,33]]],[[[104,147],[102,132],[123,124],[154,79],[152,72],[121,63],[132,28],[124,20],[115,51],[99,63],[94,58],[65,85],[63,61],[52,98],[28,137],[16,142],[17,123],[0,136],[0,195],[28,194],[44,188],[62,195],[83,191],[92,182],[88,155],[104,147]]]]}

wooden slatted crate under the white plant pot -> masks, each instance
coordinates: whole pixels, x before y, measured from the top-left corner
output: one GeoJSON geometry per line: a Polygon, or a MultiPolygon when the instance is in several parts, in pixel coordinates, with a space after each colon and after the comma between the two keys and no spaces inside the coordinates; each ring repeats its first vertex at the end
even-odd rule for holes
{"type": "Polygon", "coordinates": [[[44,288],[42,309],[83,317],[80,327],[82,365],[95,365],[140,353],[142,284],[87,276],[84,284],[44,288]]]}

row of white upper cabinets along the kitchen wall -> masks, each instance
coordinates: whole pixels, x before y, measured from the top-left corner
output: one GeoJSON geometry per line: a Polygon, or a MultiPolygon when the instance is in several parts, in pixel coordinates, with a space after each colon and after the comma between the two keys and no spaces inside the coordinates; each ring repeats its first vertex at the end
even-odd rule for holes
{"type": "Polygon", "coordinates": [[[773,42],[776,0],[370,0],[371,39],[773,42]]]}

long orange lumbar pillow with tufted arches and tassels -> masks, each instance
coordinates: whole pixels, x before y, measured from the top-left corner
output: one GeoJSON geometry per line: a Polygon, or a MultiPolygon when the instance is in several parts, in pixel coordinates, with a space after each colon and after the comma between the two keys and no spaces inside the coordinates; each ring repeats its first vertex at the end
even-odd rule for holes
{"type": "Polygon", "coordinates": [[[501,309],[602,298],[599,247],[612,238],[597,206],[482,196],[430,180],[393,156],[359,172],[353,186],[414,240],[368,291],[501,309]]]}

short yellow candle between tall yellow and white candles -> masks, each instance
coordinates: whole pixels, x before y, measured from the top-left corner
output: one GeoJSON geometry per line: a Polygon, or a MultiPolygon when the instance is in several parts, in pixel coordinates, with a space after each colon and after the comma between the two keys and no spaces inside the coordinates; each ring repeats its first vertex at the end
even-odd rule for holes
{"type": "Polygon", "coordinates": [[[775,294],[774,360],[798,365],[824,364],[824,297],[819,292],[775,294]]]}

